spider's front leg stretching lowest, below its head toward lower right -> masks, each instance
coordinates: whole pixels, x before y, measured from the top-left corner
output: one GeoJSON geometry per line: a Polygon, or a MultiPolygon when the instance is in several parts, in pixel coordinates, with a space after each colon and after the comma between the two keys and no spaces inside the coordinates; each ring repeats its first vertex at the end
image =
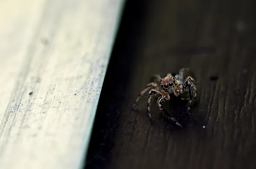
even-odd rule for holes
{"type": "Polygon", "coordinates": [[[166,100],[170,100],[170,96],[169,94],[167,93],[163,93],[161,97],[159,97],[157,99],[157,107],[158,109],[163,113],[163,115],[170,121],[172,121],[173,123],[175,123],[177,126],[180,126],[182,127],[182,125],[174,118],[172,117],[167,111],[166,109],[163,108],[163,103],[166,101],[166,100]]]}

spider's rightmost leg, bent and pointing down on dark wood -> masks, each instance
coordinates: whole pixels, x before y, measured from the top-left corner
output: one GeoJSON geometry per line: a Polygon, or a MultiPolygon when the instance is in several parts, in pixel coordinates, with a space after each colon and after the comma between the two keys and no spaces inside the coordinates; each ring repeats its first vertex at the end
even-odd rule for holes
{"type": "Polygon", "coordinates": [[[195,80],[191,76],[187,77],[186,80],[184,80],[182,85],[182,92],[185,92],[187,88],[189,88],[189,106],[188,106],[188,112],[189,112],[190,107],[193,105],[195,101],[195,97],[197,95],[195,80]]]}

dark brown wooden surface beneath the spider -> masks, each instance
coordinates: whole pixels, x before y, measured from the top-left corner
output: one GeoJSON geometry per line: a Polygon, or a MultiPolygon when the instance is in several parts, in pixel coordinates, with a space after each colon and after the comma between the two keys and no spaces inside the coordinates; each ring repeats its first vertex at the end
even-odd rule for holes
{"type": "MultiPolygon", "coordinates": [[[[128,0],[87,169],[255,169],[255,11],[253,0],[128,0]],[[172,111],[183,129],[163,119],[156,99],[152,122],[147,98],[131,110],[153,74],[183,67],[199,81],[192,113],[172,111]]],[[[182,106],[172,103],[169,111],[182,106]]]]}

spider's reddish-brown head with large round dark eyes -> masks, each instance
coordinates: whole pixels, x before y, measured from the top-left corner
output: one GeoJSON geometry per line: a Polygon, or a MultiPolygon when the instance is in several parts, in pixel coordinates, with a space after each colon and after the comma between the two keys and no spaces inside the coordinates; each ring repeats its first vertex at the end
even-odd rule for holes
{"type": "Polygon", "coordinates": [[[177,86],[178,80],[176,77],[170,75],[166,76],[161,80],[160,86],[166,90],[166,92],[172,93],[174,92],[174,88],[177,86]]]}

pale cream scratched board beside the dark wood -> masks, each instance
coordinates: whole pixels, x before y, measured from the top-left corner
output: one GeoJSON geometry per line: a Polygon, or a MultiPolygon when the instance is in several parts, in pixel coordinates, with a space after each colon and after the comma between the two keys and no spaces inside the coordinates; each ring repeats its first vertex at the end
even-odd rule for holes
{"type": "Polygon", "coordinates": [[[123,0],[0,1],[0,168],[84,163],[123,0]]]}

